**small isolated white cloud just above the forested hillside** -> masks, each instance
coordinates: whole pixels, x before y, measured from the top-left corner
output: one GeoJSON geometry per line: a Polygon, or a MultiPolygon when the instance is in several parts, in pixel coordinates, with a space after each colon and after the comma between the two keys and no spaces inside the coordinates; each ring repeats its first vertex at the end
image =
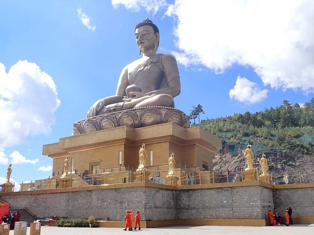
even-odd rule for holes
{"type": "Polygon", "coordinates": [[[249,81],[245,77],[238,76],[236,85],[229,91],[231,99],[245,103],[256,103],[267,98],[267,89],[261,90],[257,83],[249,81]]]}

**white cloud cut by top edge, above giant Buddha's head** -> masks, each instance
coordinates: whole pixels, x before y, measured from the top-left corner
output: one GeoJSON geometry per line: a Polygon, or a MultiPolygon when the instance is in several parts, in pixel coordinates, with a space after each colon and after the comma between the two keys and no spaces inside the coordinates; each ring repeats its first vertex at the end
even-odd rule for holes
{"type": "Polygon", "coordinates": [[[111,3],[114,8],[121,4],[128,10],[139,11],[143,7],[147,12],[152,11],[154,14],[168,6],[166,0],[112,0],[111,3]]]}

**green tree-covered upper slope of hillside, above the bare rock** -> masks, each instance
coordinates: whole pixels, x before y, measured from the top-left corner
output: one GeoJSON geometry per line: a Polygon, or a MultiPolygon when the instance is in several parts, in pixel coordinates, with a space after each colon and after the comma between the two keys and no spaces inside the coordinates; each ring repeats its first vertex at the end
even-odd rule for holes
{"type": "Polygon", "coordinates": [[[202,120],[199,125],[229,144],[230,153],[250,143],[254,154],[271,151],[314,155],[314,98],[303,107],[284,100],[276,108],[202,120]]]}

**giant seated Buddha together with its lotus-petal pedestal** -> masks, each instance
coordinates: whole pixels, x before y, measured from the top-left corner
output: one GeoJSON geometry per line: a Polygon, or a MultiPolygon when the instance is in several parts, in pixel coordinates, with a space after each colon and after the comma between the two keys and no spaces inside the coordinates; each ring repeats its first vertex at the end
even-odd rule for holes
{"type": "Polygon", "coordinates": [[[181,91],[179,70],[173,55],[157,53],[158,27],[146,18],[135,26],[135,39],[142,58],[122,69],[116,95],[96,101],[87,112],[87,119],[74,123],[73,134],[165,122],[190,126],[189,116],[174,108],[173,98],[181,91]]]}

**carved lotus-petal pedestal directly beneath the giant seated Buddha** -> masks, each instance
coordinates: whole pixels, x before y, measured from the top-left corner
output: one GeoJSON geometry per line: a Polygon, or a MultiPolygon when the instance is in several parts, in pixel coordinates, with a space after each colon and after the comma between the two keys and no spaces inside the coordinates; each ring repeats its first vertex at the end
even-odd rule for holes
{"type": "Polygon", "coordinates": [[[190,116],[171,107],[141,107],[111,112],[86,118],[73,124],[73,135],[90,133],[120,126],[132,128],[153,126],[161,123],[175,123],[190,128],[190,116]]]}

